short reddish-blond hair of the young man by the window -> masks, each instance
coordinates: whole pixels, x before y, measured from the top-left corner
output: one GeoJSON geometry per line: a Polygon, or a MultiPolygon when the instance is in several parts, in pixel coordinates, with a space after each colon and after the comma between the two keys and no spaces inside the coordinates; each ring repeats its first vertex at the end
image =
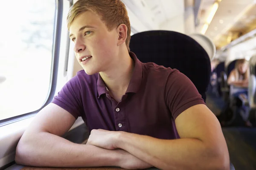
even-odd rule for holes
{"type": "Polygon", "coordinates": [[[120,24],[125,24],[128,28],[125,44],[128,51],[130,51],[131,25],[125,4],[121,0],[78,0],[67,14],[68,29],[75,18],[86,11],[91,11],[101,16],[108,31],[117,28],[120,24]]]}

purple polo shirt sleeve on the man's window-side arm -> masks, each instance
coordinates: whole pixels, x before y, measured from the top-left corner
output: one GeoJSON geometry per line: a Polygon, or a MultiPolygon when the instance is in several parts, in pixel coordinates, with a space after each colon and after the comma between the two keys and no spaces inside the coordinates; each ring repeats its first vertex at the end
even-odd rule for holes
{"type": "Polygon", "coordinates": [[[81,116],[81,86],[77,76],[68,81],[57,96],[54,96],[52,103],[68,111],[76,119],[81,116]]]}

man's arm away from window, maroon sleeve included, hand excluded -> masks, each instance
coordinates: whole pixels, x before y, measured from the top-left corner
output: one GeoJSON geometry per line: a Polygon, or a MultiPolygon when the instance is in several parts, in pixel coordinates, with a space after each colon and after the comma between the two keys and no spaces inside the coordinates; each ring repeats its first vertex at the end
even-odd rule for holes
{"type": "Polygon", "coordinates": [[[165,94],[180,139],[121,133],[117,148],[160,169],[228,170],[229,153],[221,126],[191,80],[173,72],[165,94]]]}

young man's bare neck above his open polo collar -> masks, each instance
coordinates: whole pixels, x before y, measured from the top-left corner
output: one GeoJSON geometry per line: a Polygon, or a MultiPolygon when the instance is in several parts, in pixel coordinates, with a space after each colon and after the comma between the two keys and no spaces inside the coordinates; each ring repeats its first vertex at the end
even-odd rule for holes
{"type": "Polygon", "coordinates": [[[107,86],[111,96],[119,102],[122,95],[128,88],[134,70],[134,60],[129,53],[119,56],[115,63],[107,72],[100,72],[105,85],[107,86]]]}

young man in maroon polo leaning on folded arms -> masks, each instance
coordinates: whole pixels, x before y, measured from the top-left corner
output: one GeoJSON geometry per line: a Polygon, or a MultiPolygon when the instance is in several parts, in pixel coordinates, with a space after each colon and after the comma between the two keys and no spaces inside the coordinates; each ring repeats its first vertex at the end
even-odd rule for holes
{"type": "Polygon", "coordinates": [[[131,28],[120,0],[79,0],[67,24],[84,70],[25,131],[18,164],[229,169],[221,127],[192,82],[129,51],[131,28]],[[59,137],[78,116],[90,130],[85,145],[59,137]]]}

